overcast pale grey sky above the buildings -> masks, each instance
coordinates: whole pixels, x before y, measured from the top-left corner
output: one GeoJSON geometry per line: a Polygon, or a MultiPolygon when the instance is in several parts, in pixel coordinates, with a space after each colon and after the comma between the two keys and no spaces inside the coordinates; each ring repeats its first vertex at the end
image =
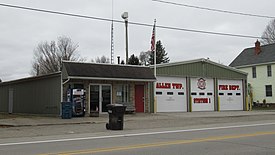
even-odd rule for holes
{"type": "MultiPolygon", "coordinates": [[[[171,2],[244,12],[274,15],[273,0],[169,0],[171,2]]],[[[19,5],[45,10],[112,18],[112,0],[0,0],[1,4],[19,5]]],[[[151,0],[113,0],[113,18],[123,20],[128,12],[129,22],[178,27],[185,29],[261,36],[271,19],[240,16],[183,6],[168,5],[151,0]]],[[[0,6],[0,79],[9,81],[30,76],[33,50],[41,41],[68,36],[79,45],[78,51],[87,60],[105,55],[111,57],[111,23],[92,19],[68,17],[0,6]]],[[[125,29],[114,23],[114,55],[125,59],[125,29]]],[[[217,36],[169,29],[156,30],[168,52],[170,62],[197,58],[228,65],[244,49],[253,47],[256,39],[217,36]]],[[[150,49],[152,27],[129,25],[129,56],[150,49]]]]}

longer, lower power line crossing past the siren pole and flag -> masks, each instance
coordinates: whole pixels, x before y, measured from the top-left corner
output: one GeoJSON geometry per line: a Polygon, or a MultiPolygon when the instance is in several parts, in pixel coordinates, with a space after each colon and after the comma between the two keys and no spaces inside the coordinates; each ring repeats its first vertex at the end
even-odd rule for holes
{"type": "MultiPolygon", "coordinates": [[[[66,12],[58,12],[58,11],[51,11],[51,10],[45,10],[45,9],[37,9],[37,8],[9,5],[9,4],[3,4],[3,3],[0,3],[0,6],[9,7],[9,8],[16,8],[16,9],[22,9],[22,10],[36,11],[36,12],[44,12],[44,13],[50,13],[50,14],[57,14],[57,15],[63,15],[63,16],[70,16],[70,17],[77,17],[77,18],[93,19],[93,20],[106,21],[106,22],[124,23],[124,21],[114,20],[114,19],[109,19],[109,18],[93,17],[93,16],[72,14],[72,13],[66,13],[66,12]]],[[[138,23],[138,22],[128,22],[128,24],[137,25],[137,26],[144,26],[144,27],[153,27],[152,24],[138,23]]],[[[211,32],[211,31],[203,31],[203,30],[193,30],[193,29],[162,26],[162,25],[156,25],[156,27],[161,28],[161,29],[186,31],[186,32],[192,32],[192,33],[202,33],[202,34],[230,36],[230,37],[241,37],[241,38],[250,38],[250,39],[263,39],[262,37],[258,37],[258,36],[231,34],[231,33],[221,33],[221,32],[211,32]]]]}

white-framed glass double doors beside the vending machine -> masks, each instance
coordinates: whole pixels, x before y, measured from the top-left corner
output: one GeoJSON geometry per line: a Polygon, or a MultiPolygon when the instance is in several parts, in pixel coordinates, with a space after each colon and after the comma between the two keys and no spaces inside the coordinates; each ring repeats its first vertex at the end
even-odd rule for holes
{"type": "Polygon", "coordinates": [[[90,85],[90,112],[107,112],[107,105],[112,101],[112,86],[105,84],[90,85]]]}

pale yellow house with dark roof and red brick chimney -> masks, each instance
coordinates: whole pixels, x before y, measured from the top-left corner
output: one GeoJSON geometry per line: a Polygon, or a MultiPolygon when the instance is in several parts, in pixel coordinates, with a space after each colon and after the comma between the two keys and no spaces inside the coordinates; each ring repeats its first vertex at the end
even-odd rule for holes
{"type": "Polygon", "coordinates": [[[248,73],[253,102],[275,103],[275,43],[244,49],[229,65],[248,73]]]}

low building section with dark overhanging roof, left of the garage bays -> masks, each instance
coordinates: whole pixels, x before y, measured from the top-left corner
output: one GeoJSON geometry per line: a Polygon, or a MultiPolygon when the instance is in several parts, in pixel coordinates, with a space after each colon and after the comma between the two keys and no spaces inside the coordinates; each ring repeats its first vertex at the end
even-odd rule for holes
{"type": "Polygon", "coordinates": [[[154,81],[149,67],[63,62],[58,73],[1,82],[0,112],[60,115],[66,101],[77,116],[98,116],[116,103],[129,112],[151,112],[154,81]]]}

